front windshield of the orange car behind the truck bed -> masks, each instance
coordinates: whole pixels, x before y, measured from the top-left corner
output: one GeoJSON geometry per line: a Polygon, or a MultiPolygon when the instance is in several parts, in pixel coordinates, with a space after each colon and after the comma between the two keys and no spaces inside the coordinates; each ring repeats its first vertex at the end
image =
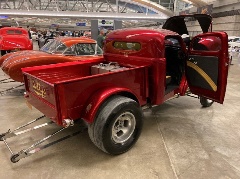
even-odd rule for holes
{"type": "Polygon", "coordinates": [[[45,44],[40,50],[47,53],[62,54],[67,46],[57,40],[52,40],[45,44]]]}

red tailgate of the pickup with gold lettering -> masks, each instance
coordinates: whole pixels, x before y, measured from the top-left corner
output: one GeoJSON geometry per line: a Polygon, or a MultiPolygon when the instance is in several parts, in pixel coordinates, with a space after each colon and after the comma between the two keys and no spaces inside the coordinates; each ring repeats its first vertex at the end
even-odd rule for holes
{"type": "MultiPolygon", "coordinates": [[[[61,114],[57,107],[57,90],[53,84],[47,83],[37,77],[24,73],[26,88],[25,98],[31,104],[54,122],[58,123],[58,115],[61,114]]],[[[61,124],[59,124],[61,125],[61,124]]]]}

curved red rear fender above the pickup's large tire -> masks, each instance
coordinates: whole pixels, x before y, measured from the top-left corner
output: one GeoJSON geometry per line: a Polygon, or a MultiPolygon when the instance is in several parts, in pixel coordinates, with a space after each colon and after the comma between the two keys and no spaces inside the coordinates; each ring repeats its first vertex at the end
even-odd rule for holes
{"type": "Polygon", "coordinates": [[[106,101],[106,99],[113,95],[127,96],[138,102],[137,97],[127,88],[100,89],[90,97],[86,103],[86,106],[83,108],[83,120],[85,120],[87,123],[92,123],[98,109],[106,101]]]}

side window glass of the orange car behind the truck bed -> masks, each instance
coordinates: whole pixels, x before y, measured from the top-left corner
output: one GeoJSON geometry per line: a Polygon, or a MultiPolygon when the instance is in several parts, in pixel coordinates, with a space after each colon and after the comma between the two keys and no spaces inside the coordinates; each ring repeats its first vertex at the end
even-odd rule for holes
{"type": "Polygon", "coordinates": [[[79,43],[69,47],[65,55],[102,55],[103,51],[97,44],[79,43]]]}

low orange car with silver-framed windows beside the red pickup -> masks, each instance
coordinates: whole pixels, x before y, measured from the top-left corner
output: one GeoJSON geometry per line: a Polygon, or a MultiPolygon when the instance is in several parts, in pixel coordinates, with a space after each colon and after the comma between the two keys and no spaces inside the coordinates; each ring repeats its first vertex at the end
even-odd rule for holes
{"type": "Polygon", "coordinates": [[[58,37],[45,44],[40,51],[27,50],[6,54],[0,59],[0,66],[10,78],[23,82],[21,68],[94,57],[102,58],[102,49],[95,40],[82,37],[58,37]]]}

